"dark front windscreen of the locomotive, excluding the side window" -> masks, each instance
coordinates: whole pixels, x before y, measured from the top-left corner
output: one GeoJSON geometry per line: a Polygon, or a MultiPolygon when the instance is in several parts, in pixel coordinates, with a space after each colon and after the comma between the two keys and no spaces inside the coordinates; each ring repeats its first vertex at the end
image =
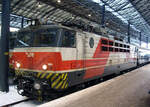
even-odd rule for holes
{"type": "Polygon", "coordinates": [[[58,28],[20,31],[15,47],[57,47],[58,28]]]}

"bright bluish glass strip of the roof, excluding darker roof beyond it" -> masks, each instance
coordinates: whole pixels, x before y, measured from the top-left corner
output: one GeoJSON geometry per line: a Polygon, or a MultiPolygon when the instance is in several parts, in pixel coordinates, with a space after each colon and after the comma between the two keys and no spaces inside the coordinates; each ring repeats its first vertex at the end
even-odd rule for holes
{"type": "MultiPolygon", "coordinates": [[[[150,26],[141,16],[141,14],[135,9],[129,0],[93,0],[100,5],[107,5],[107,10],[111,11],[115,16],[127,23],[128,21],[138,30],[150,35],[150,26]],[[138,23],[137,23],[138,21],[138,23]],[[139,27],[140,26],[140,27],[139,27]]],[[[136,1],[136,0],[134,0],[136,1]]],[[[139,0],[143,1],[143,0],[139,0]]],[[[146,0],[147,1],[147,0],[146,0]]],[[[140,3],[139,3],[140,4],[140,3]]],[[[142,3],[140,4],[142,6],[142,3]]],[[[150,4],[145,4],[148,7],[150,4]]]]}

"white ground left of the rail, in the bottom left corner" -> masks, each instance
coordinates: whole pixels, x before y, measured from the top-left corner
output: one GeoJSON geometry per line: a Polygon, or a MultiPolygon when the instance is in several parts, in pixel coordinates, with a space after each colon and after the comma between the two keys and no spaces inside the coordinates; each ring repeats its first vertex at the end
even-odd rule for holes
{"type": "Polygon", "coordinates": [[[0,107],[26,99],[17,93],[14,86],[9,87],[9,93],[0,93],[0,107]]]}

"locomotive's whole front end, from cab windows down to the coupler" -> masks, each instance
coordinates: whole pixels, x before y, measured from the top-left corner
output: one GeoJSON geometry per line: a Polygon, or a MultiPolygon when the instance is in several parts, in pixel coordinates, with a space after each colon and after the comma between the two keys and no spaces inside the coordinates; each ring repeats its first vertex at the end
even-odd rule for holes
{"type": "MultiPolygon", "coordinates": [[[[25,28],[17,32],[10,64],[18,79],[18,91],[29,96],[42,89],[68,88],[67,73],[76,60],[76,32],[55,25],[25,28]],[[65,63],[64,63],[65,62],[65,63]]],[[[37,97],[37,96],[36,96],[37,97]]]]}

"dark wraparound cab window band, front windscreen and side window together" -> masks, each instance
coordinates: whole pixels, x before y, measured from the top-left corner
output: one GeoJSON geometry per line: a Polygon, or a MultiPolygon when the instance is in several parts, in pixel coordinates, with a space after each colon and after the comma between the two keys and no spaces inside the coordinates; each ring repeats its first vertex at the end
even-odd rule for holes
{"type": "Polygon", "coordinates": [[[17,33],[15,47],[76,47],[75,31],[61,28],[28,29],[17,33]]]}

